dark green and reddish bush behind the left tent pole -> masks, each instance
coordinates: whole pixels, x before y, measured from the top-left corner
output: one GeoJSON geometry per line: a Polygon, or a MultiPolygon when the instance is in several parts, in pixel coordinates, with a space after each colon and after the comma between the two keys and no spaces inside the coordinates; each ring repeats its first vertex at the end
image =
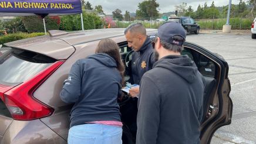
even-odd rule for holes
{"type": "MultiPolygon", "coordinates": [[[[23,23],[29,33],[45,32],[43,28],[43,19],[40,16],[24,16],[23,23]]],[[[45,26],[46,30],[59,29],[60,18],[59,16],[46,16],[45,26]]]]}

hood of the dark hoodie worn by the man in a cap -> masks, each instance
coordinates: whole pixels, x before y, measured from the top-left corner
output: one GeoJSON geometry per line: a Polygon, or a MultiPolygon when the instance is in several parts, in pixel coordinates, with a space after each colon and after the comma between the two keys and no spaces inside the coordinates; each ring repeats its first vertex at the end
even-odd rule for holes
{"type": "Polygon", "coordinates": [[[188,83],[193,83],[197,79],[197,66],[187,56],[166,56],[156,61],[153,67],[162,67],[173,71],[188,83]]]}

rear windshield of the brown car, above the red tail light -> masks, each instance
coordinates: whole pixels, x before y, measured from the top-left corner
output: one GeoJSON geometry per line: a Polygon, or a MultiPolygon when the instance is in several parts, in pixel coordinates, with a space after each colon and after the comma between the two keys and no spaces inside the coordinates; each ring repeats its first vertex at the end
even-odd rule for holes
{"type": "Polygon", "coordinates": [[[29,80],[56,60],[43,54],[8,49],[0,54],[0,84],[16,85],[29,80]]]}

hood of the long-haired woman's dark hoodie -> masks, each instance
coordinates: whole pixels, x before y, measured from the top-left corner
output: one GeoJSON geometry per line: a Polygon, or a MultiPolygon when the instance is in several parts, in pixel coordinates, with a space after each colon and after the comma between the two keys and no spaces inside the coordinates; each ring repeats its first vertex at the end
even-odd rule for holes
{"type": "Polygon", "coordinates": [[[116,60],[106,53],[96,53],[87,57],[87,59],[95,59],[107,67],[117,67],[116,60]]]}

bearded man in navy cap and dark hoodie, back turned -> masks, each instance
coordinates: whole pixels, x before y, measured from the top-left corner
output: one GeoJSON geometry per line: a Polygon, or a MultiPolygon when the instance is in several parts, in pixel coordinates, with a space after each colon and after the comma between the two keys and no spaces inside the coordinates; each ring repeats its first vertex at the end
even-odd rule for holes
{"type": "Polygon", "coordinates": [[[204,79],[181,56],[186,32],[176,22],[159,27],[153,69],[140,83],[136,144],[200,143],[204,79]]]}

